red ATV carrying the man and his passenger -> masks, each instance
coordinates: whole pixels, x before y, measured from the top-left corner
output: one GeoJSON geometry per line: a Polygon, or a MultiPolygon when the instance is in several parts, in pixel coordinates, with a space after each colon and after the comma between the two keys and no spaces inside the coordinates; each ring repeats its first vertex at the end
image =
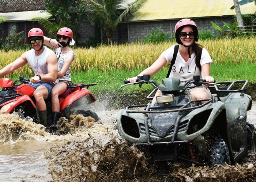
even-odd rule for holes
{"type": "MultiPolygon", "coordinates": [[[[22,119],[29,116],[35,123],[40,123],[38,109],[33,96],[34,88],[29,84],[33,83],[28,78],[23,78],[23,76],[20,76],[15,82],[9,78],[0,79],[0,87],[2,88],[0,91],[0,114],[16,112],[22,119]]],[[[87,104],[95,101],[88,87],[96,84],[76,83],[68,86],[67,91],[59,96],[60,116],[69,120],[70,114],[83,114],[84,116],[91,116],[97,121],[99,118],[95,112],[84,110],[87,104]]],[[[51,100],[45,100],[45,102],[47,125],[50,126],[52,124],[52,103],[51,100]]]]}

